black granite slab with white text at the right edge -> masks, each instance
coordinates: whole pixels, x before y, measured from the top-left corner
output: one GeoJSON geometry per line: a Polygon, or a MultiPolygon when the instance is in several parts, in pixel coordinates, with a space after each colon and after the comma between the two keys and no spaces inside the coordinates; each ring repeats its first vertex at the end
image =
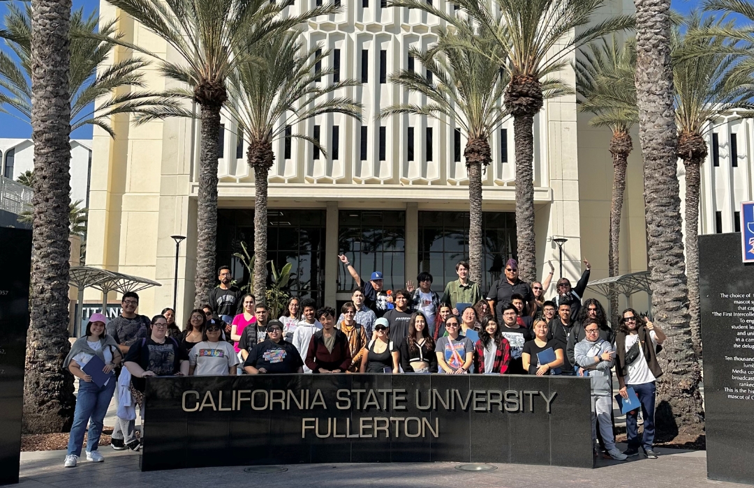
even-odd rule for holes
{"type": "Polygon", "coordinates": [[[707,476],[754,483],[754,264],[740,233],[699,236],[707,476]]]}

